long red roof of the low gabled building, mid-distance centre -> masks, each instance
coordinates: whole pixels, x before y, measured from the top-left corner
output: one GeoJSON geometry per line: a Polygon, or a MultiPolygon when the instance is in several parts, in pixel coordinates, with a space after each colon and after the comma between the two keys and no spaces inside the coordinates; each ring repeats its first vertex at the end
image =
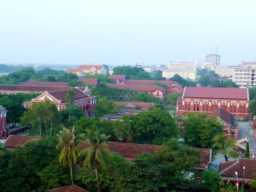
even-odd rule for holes
{"type": "Polygon", "coordinates": [[[166,89],[155,86],[155,85],[147,85],[147,84],[111,84],[106,83],[106,86],[112,87],[112,88],[118,88],[118,89],[131,89],[135,91],[141,91],[141,92],[154,92],[156,90],[165,92],[166,89]]]}

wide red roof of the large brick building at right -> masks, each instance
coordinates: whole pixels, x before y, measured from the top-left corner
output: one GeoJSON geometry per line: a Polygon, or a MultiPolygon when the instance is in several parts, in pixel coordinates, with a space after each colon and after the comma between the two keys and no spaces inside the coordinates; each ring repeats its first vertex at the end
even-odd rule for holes
{"type": "Polygon", "coordinates": [[[249,100],[249,95],[245,88],[185,87],[183,98],[249,100]]]}

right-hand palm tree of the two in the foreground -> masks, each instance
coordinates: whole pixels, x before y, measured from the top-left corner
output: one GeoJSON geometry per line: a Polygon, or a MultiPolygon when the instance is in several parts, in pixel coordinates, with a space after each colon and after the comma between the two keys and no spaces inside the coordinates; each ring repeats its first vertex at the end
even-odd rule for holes
{"type": "Polygon", "coordinates": [[[94,167],[95,176],[97,180],[98,192],[99,180],[98,180],[98,168],[105,167],[105,161],[110,157],[110,151],[108,150],[107,140],[110,136],[100,134],[99,130],[95,127],[93,130],[86,130],[86,141],[89,144],[82,153],[85,156],[83,166],[94,167]]]}

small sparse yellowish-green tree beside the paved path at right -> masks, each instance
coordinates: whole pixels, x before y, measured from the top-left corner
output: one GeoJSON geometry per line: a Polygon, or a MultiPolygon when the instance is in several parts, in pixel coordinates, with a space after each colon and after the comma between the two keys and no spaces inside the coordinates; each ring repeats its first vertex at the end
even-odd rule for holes
{"type": "Polygon", "coordinates": [[[224,155],[226,162],[229,157],[239,157],[238,146],[233,138],[227,138],[225,133],[220,133],[214,137],[213,148],[221,149],[221,154],[224,155]]]}

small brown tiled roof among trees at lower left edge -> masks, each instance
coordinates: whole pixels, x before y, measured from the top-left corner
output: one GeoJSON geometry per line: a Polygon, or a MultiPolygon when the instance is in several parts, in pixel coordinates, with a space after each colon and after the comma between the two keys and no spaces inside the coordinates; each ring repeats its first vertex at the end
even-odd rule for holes
{"type": "Polygon", "coordinates": [[[38,139],[40,139],[40,137],[10,135],[4,145],[8,149],[15,149],[17,146],[23,147],[27,142],[38,139]]]}

